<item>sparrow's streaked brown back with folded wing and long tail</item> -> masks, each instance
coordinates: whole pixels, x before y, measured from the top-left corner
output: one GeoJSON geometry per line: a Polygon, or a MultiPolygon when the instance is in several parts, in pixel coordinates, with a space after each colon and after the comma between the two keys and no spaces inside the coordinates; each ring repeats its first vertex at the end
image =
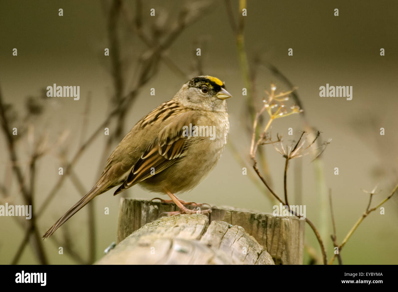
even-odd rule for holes
{"type": "MultiPolygon", "coordinates": [[[[115,194],[133,186],[133,184],[136,184],[141,180],[146,179],[150,175],[150,169],[152,167],[154,167],[155,172],[158,173],[170,166],[176,161],[176,159],[178,159],[178,157],[183,155],[184,147],[187,145],[187,137],[182,137],[183,125],[185,123],[188,123],[189,125],[190,122],[195,123],[195,121],[196,118],[193,111],[187,112],[186,110],[183,110],[183,108],[174,101],[168,101],[161,104],[158,108],[142,118],[111,154],[100,179],[94,187],[57,222],[55,222],[49,230],[47,230],[43,235],[43,239],[51,236],[51,234],[64,224],[66,220],[82,209],[88,202],[94,199],[94,197],[119,185],[120,182],[117,183],[118,178],[128,172],[129,169],[132,168],[133,164],[133,170],[131,170],[128,178],[115,194]],[[183,118],[180,120],[179,118],[176,118],[178,116],[182,116],[183,118]],[[138,135],[138,132],[146,131],[144,127],[156,127],[157,123],[164,123],[166,125],[160,130],[160,135],[156,135],[156,139],[150,139],[150,141],[154,141],[154,143],[149,143],[150,147],[139,145],[142,146],[141,149],[147,149],[147,151],[142,151],[143,153],[138,161],[129,161],[129,155],[125,152],[131,151],[131,144],[145,144],[146,142],[143,141],[148,141],[148,137],[146,139],[142,139],[143,136],[138,135]],[[133,139],[133,143],[131,142],[131,139],[133,139]],[[121,151],[125,154],[123,159],[118,158],[121,156],[121,151]]],[[[156,133],[158,132],[156,131],[156,133]]],[[[137,147],[137,145],[135,146],[137,147]]],[[[140,147],[137,148],[139,149],[140,147]]],[[[140,154],[141,153],[139,153],[139,155],[140,154]]]]}

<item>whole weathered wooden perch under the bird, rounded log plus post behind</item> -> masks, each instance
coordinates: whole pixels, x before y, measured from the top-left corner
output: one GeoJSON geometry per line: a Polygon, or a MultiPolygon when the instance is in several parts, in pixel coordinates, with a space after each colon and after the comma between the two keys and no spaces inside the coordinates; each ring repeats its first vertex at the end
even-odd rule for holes
{"type": "Polygon", "coordinates": [[[122,198],[119,244],[98,263],[110,263],[112,253],[117,263],[302,263],[304,221],[297,217],[218,207],[210,215],[158,219],[162,212],[176,209],[174,204],[122,198]],[[148,250],[155,250],[156,256],[148,250]]]}

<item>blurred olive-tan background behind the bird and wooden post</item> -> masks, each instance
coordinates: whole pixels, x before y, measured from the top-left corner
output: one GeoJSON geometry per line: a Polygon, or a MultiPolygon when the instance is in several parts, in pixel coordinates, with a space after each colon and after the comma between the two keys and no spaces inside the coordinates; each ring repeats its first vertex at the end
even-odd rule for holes
{"type": "MultiPolygon", "coordinates": [[[[179,197],[272,213],[275,201],[250,160],[252,118],[271,83],[277,91],[298,87],[289,102],[299,103],[304,112],[275,120],[272,136],[279,133],[290,143],[312,127],[322,132],[321,141],[332,139],[315,161],[313,155],[292,160],[287,179],[289,203],[306,205],[306,217],[317,226],[330,259],[329,189],[341,243],[367,207],[369,194],[363,190],[378,186],[373,207],[398,183],[397,10],[394,1],[3,2],[0,90],[8,130],[18,128],[11,139],[23,179],[13,169],[3,123],[0,204],[30,200],[35,215],[34,223],[0,217],[0,263],[76,264],[101,258],[116,238],[120,195],[113,197],[112,191],[49,240],[38,238],[90,190],[135,123],[201,74],[222,79],[233,95],[228,147],[209,177],[179,197]],[[336,8],[339,16],[334,16],[336,8]],[[46,87],[53,83],[80,86],[80,100],[47,98],[46,87]],[[320,97],[319,87],[326,83],[352,86],[352,100],[320,97]]],[[[262,123],[267,119],[264,115],[262,123]]],[[[283,197],[285,159],[272,145],[261,149],[260,170],[283,197]]],[[[139,186],[121,195],[158,196],[139,186]]],[[[398,263],[397,205],[395,194],[382,205],[384,215],[377,209],[361,223],[341,252],[343,263],[398,263]]],[[[304,263],[322,263],[320,255],[306,226],[304,263]]]]}

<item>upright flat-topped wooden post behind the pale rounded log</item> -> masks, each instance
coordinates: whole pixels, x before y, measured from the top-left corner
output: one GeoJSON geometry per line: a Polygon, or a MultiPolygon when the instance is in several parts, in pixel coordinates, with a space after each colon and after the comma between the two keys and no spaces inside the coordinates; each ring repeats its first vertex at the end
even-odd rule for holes
{"type": "MultiPolygon", "coordinates": [[[[148,222],[156,220],[161,213],[176,211],[178,208],[174,204],[122,198],[119,210],[117,242],[121,242],[148,222]]],[[[268,251],[276,264],[302,264],[304,220],[300,220],[297,217],[273,216],[272,214],[232,207],[218,207],[213,209],[210,214],[203,216],[206,216],[210,223],[222,221],[232,226],[241,226],[249,235],[254,237],[260,246],[263,246],[268,251]]],[[[217,226],[217,228],[221,227],[225,228],[225,225],[217,226]]],[[[209,226],[209,228],[213,227],[209,226]]],[[[224,230],[222,228],[221,230],[224,230]]],[[[229,233],[226,232],[226,234],[229,233]]],[[[240,238],[243,243],[244,239],[240,238]]],[[[201,240],[208,239],[203,236],[201,240]]],[[[224,241],[223,244],[227,244],[227,242],[224,241]]],[[[215,245],[211,244],[211,246],[214,247],[215,245]]],[[[220,244],[219,248],[222,249],[221,247],[224,247],[224,245],[220,244]]],[[[243,246],[240,246],[240,248],[243,248],[243,246]]],[[[254,249],[248,250],[249,253],[254,252],[254,249]]],[[[267,262],[267,258],[261,255],[258,259],[259,263],[262,258],[264,258],[264,262],[267,262]]],[[[233,258],[234,256],[232,256],[233,258]]]]}

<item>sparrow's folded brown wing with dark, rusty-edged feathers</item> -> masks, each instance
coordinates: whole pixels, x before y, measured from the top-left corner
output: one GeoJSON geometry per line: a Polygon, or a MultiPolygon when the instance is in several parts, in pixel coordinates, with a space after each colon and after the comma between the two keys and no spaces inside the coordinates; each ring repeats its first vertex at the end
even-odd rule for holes
{"type": "MultiPolygon", "coordinates": [[[[175,109],[178,110],[178,108],[175,109]]],[[[129,176],[115,191],[114,195],[130,188],[138,182],[146,180],[154,174],[162,172],[184,156],[184,150],[189,145],[191,139],[189,136],[183,135],[183,127],[189,127],[190,124],[192,127],[195,126],[200,117],[199,113],[196,111],[183,113],[169,112],[166,115],[166,119],[163,120],[166,126],[160,130],[154,142],[142,153],[141,157],[134,164],[129,176]],[[170,120],[170,122],[167,123],[166,120],[170,120]]]]}

